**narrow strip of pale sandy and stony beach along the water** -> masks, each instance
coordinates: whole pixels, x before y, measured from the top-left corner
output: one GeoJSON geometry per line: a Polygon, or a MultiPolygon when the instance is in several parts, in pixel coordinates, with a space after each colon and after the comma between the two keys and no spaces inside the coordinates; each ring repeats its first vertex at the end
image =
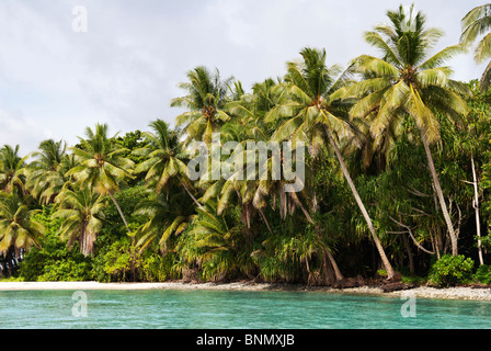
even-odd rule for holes
{"type": "Polygon", "coordinates": [[[416,298],[443,298],[443,299],[470,299],[491,301],[491,288],[456,286],[447,288],[436,288],[429,286],[418,286],[393,292],[384,292],[381,287],[363,285],[358,287],[334,288],[331,286],[308,286],[300,284],[281,283],[254,283],[254,282],[231,282],[231,283],[189,283],[181,281],[162,283],[99,283],[94,281],[85,282],[1,282],[0,292],[14,291],[44,291],[44,290],[219,290],[219,291],[255,291],[255,292],[319,292],[332,294],[362,294],[377,295],[386,297],[413,296],[416,298]]]}

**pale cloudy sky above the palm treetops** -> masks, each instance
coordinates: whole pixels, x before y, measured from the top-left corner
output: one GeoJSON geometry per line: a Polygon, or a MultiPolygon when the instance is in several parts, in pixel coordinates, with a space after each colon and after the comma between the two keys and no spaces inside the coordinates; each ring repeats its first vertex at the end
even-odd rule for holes
{"type": "MultiPolygon", "coordinates": [[[[68,145],[87,127],[148,131],[183,111],[170,100],[186,72],[204,65],[246,90],[285,73],[301,48],[326,48],[328,65],[377,53],[365,31],[388,10],[414,3],[427,26],[458,43],[460,20],[477,0],[1,0],[0,146],[21,155],[48,138],[68,145]],[[81,10],[82,12],[80,12],[81,10]]],[[[454,79],[479,78],[472,55],[447,63],[454,79]]]]}

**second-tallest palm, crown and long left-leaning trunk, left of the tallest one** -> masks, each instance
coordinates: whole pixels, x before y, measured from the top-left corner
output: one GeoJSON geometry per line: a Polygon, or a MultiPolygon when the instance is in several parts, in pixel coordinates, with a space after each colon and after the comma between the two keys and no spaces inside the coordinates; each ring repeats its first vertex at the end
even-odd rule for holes
{"type": "Polygon", "coordinates": [[[317,155],[326,138],[334,150],[344,178],[355,197],[377,247],[378,253],[386,269],[388,279],[395,275],[392,265],[385,253],[384,247],[375,233],[375,226],[359,196],[355,183],[351,178],[344,157],[340,150],[340,139],[353,135],[347,118],[347,105],[342,100],[346,88],[352,82],[349,70],[342,72],[340,67],[326,65],[326,50],[305,48],[300,52],[304,60],[288,63],[288,72],[284,89],[289,100],[266,115],[267,120],[287,116],[275,135],[276,140],[290,138],[308,140],[313,156],[317,155]]]}

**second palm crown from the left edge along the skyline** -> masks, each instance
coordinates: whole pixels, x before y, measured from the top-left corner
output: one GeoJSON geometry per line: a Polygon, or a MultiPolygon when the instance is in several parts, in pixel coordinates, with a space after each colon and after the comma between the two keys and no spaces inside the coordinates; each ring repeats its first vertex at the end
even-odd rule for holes
{"type": "Polygon", "coordinates": [[[67,158],[66,145],[62,140],[48,139],[41,141],[38,149],[39,151],[32,154],[36,159],[27,167],[25,185],[34,197],[47,204],[54,200],[66,182],[64,173],[60,172],[62,162],[67,158]]]}

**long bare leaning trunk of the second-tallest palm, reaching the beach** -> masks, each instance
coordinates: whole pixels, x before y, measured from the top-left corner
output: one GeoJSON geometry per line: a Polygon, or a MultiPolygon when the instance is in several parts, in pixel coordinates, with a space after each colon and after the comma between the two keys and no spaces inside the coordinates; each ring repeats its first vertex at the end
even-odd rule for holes
{"type": "Polygon", "coordinates": [[[332,135],[331,131],[328,128],[328,126],[324,126],[326,133],[328,134],[329,141],[332,145],[332,148],[334,149],[334,154],[338,157],[338,161],[341,165],[341,169],[343,171],[344,178],[346,179],[350,189],[353,193],[353,196],[355,197],[356,204],[358,205],[359,210],[362,211],[362,214],[365,218],[365,222],[368,226],[368,229],[372,234],[372,239],[375,242],[375,246],[377,247],[378,254],[380,256],[381,262],[384,264],[384,268],[387,272],[387,279],[392,279],[395,275],[392,265],[389,262],[389,259],[387,258],[386,252],[384,251],[384,247],[381,246],[380,239],[378,238],[377,234],[375,233],[374,224],[372,223],[370,216],[368,215],[368,212],[365,208],[365,205],[363,204],[362,197],[359,197],[359,194],[356,190],[355,183],[351,179],[350,172],[347,171],[346,165],[344,163],[343,156],[341,155],[340,149],[338,148],[338,145],[335,144],[334,136],[332,135]]]}

